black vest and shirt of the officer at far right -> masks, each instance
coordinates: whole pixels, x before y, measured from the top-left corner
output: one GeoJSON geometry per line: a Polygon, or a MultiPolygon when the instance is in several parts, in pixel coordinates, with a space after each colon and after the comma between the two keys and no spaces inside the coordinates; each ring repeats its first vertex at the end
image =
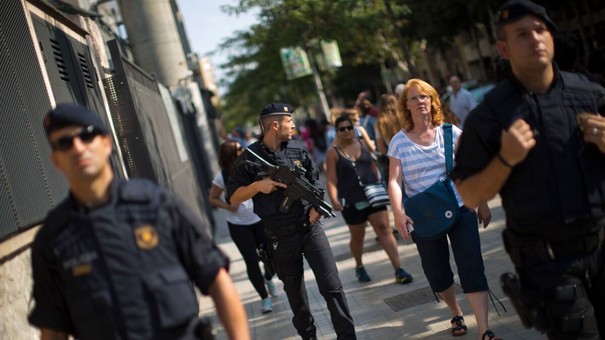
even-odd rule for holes
{"type": "Polygon", "coordinates": [[[597,113],[586,77],[555,72],[546,94],[503,80],[485,100],[504,129],[521,118],[537,142],[500,191],[507,226],[518,234],[589,232],[564,230],[565,224],[605,215],[605,155],[584,143],[577,121],[580,113],[597,113]]]}

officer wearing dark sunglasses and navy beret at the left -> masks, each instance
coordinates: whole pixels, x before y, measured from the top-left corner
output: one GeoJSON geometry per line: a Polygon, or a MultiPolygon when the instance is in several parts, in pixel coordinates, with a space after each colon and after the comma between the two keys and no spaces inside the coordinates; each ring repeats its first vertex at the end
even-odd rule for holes
{"type": "Polygon", "coordinates": [[[114,177],[108,129],[87,108],[59,104],[44,128],[70,196],[31,246],[29,321],[41,338],[207,339],[193,281],[214,299],[229,338],[249,339],[229,260],[205,223],[151,181],[114,177]]]}

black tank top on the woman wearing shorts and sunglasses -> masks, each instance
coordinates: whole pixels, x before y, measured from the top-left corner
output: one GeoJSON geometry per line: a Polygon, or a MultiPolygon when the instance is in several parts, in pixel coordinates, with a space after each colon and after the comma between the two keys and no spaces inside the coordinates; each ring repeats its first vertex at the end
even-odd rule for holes
{"type": "Polygon", "coordinates": [[[353,168],[353,163],[338,152],[336,145],[336,154],[338,154],[338,162],[336,163],[336,189],[338,190],[338,198],[344,198],[345,204],[355,204],[361,201],[367,201],[364,188],[359,185],[361,178],[364,185],[373,184],[378,181],[374,172],[372,172],[372,158],[370,154],[361,145],[361,155],[355,160],[357,172],[353,168]]]}

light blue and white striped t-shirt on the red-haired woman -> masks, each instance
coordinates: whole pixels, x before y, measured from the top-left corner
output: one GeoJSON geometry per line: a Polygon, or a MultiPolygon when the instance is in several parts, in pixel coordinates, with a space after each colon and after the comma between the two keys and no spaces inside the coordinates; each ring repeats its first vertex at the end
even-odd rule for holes
{"type": "MultiPolygon", "coordinates": [[[[460,130],[456,125],[452,126],[452,142],[456,145],[460,130]]],[[[443,148],[443,126],[437,126],[435,140],[429,146],[417,145],[412,142],[404,131],[399,131],[388,146],[387,155],[401,160],[401,169],[404,173],[405,193],[412,197],[425,191],[437,180],[446,177],[445,171],[445,149],[443,148]]],[[[462,198],[451,182],[458,204],[462,206],[462,198]]]]}

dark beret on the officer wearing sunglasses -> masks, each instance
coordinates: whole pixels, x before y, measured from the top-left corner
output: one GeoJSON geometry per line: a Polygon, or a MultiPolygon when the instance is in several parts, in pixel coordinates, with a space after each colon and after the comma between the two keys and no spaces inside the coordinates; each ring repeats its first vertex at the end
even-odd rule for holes
{"type": "Polygon", "coordinates": [[[51,132],[70,125],[94,126],[94,128],[108,134],[109,130],[98,114],[88,108],[74,103],[59,103],[44,117],[44,129],[48,136],[51,132]]]}

